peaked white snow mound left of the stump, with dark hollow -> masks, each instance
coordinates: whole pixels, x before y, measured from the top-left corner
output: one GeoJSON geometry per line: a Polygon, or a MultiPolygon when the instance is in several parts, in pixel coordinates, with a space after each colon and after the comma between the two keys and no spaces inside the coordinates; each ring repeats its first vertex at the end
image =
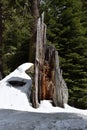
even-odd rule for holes
{"type": "Polygon", "coordinates": [[[31,93],[32,80],[29,75],[25,73],[33,64],[24,63],[16,70],[6,76],[0,81],[0,108],[14,109],[14,110],[29,110],[30,104],[28,97],[31,93]],[[9,84],[9,81],[20,81],[25,84],[20,87],[9,84]]]}

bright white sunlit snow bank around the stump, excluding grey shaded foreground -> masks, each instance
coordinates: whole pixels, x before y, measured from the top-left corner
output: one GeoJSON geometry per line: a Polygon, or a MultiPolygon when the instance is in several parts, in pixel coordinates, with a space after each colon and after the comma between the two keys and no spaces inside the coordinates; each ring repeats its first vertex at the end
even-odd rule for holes
{"type": "Polygon", "coordinates": [[[39,113],[78,113],[87,115],[87,110],[80,110],[65,104],[65,108],[53,107],[51,101],[41,101],[39,108],[32,108],[29,102],[32,80],[25,73],[32,63],[20,65],[15,71],[0,81],[0,109],[14,109],[39,113]],[[13,87],[8,83],[10,80],[24,81],[24,86],[13,87]]]}

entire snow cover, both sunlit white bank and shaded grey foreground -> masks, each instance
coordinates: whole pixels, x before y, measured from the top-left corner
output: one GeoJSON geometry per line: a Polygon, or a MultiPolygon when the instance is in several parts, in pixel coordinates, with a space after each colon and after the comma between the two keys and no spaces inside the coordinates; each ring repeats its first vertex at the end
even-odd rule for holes
{"type": "Polygon", "coordinates": [[[18,127],[22,127],[22,125],[23,128],[21,128],[21,130],[28,130],[27,128],[31,127],[33,130],[74,130],[77,128],[77,130],[87,130],[87,110],[77,109],[68,104],[65,104],[65,108],[53,107],[51,101],[48,100],[41,101],[39,108],[37,109],[32,107],[29,99],[32,80],[31,77],[25,73],[32,65],[32,63],[24,63],[0,81],[0,130],[7,129],[5,122],[8,122],[9,130],[16,130],[16,127],[18,129],[18,127]],[[14,87],[8,82],[12,80],[24,81],[26,84],[14,87]],[[11,114],[9,116],[9,111],[7,109],[10,110],[12,116],[11,114]],[[4,117],[4,110],[9,119],[5,118],[6,115],[4,117]],[[12,110],[19,110],[21,113],[12,110]],[[14,120],[13,113],[15,113],[14,120]],[[72,113],[74,115],[72,115],[72,113]],[[29,115],[29,117],[27,117],[27,115],[29,115]],[[28,120],[26,120],[26,118],[28,118],[28,120]],[[35,119],[36,122],[34,122],[35,119]],[[16,124],[18,123],[17,121],[19,122],[18,126],[15,125],[15,127],[12,127],[14,122],[16,124]],[[12,126],[9,122],[11,122],[12,126]]]}

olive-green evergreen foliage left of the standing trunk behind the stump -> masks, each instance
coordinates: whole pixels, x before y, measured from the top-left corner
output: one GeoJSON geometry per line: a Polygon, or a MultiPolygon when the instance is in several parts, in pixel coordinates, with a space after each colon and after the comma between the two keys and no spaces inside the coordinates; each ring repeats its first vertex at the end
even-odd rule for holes
{"type": "Polygon", "coordinates": [[[30,2],[3,1],[4,17],[4,73],[8,74],[29,59],[31,37],[30,2]]]}

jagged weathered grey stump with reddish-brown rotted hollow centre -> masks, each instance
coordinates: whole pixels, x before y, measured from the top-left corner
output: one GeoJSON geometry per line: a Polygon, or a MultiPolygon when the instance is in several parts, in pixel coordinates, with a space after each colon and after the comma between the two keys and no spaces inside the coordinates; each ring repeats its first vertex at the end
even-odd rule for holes
{"type": "Polygon", "coordinates": [[[68,101],[68,89],[59,67],[58,52],[54,46],[46,44],[43,14],[37,24],[33,106],[37,108],[41,100],[52,100],[55,106],[60,107],[64,107],[68,101]]]}

